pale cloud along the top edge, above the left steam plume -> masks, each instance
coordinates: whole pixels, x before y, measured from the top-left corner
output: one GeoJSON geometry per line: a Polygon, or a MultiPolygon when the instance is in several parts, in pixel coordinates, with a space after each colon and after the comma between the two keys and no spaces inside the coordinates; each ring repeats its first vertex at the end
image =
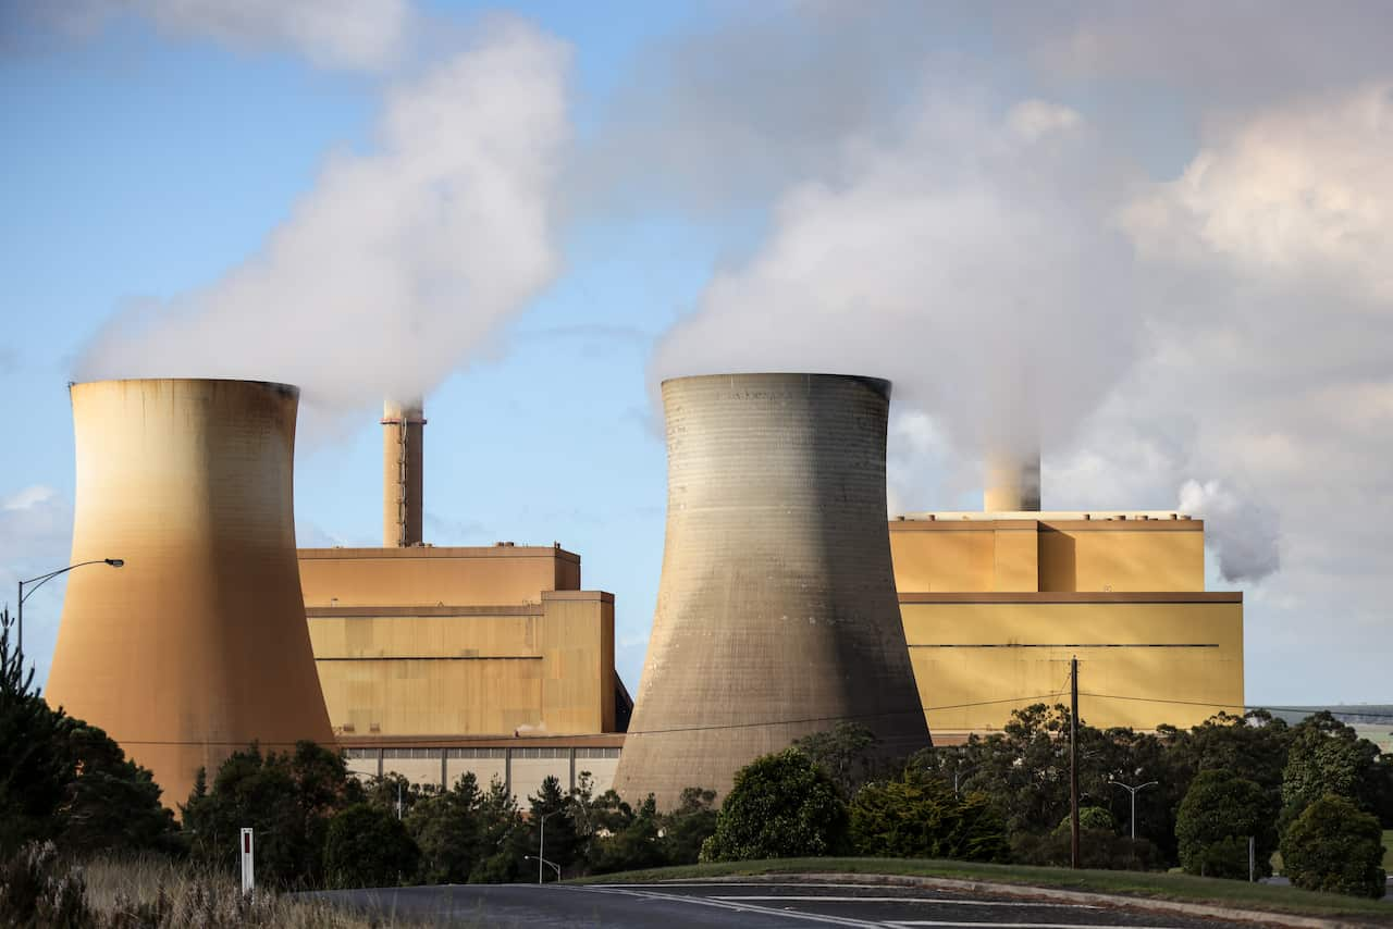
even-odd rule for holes
{"type": "Polygon", "coordinates": [[[322,67],[369,71],[403,57],[412,26],[410,0],[78,0],[49,15],[92,31],[127,13],[177,36],[288,47],[322,67]]]}

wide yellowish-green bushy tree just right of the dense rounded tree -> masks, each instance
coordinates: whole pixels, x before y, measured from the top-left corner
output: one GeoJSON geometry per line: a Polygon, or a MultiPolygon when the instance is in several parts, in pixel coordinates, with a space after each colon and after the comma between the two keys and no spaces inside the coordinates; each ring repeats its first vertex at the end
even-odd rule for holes
{"type": "Polygon", "coordinates": [[[872,781],[850,804],[858,854],[885,858],[961,858],[1004,862],[1006,820],[982,793],[958,797],[921,767],[872,781]]]}

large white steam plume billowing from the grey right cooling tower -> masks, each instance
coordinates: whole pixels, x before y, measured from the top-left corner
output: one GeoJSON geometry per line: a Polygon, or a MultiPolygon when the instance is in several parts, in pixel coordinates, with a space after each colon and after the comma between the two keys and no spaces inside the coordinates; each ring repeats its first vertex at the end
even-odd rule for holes
{"type": "Polygon", "coordinates": [[[890,377],[960,447],[1060,440],[1130,366],[1121,178],[1078,113],[925,97],[893,142],[851,138],[794,185],[768,241],[659,345],[655,379],[723,370],[890,377]]]}

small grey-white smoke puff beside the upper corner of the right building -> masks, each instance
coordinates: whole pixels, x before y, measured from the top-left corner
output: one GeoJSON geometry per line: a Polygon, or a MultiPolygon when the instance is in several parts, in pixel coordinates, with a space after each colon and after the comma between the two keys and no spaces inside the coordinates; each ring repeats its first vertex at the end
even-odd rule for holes
{"type": "Polygon", "coordinates": [[[1224,581],[1258,581],[1282,567],[1277,514],[1240,497],[1219,481],[1187,481],[1180,508],[1204,517],[1205,543],[1219,559],[1224,581]]]}

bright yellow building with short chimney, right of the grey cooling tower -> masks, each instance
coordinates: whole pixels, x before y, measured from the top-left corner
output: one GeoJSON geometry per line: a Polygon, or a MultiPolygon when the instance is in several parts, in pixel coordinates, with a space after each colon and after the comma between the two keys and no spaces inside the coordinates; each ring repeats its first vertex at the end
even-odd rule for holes
{"type": "Polygon", "coordinates": [[[1201,520],[1041,513],[1038,455],[995,455],[986,471],[986,511],[890,522],[935,742],[1060,702],[1075,656],[1091,726],[1188,727],[1243,712],[1243,593],[1205,591],[1201,520]]]}

